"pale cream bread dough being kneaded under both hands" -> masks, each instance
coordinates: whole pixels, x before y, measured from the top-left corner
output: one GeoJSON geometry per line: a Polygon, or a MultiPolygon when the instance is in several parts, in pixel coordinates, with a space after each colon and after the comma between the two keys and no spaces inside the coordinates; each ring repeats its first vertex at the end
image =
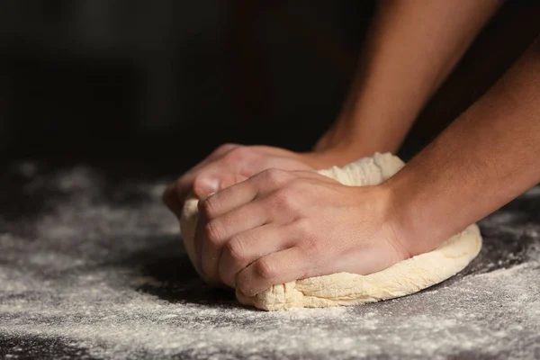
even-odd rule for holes
{"type": "MultiPolygon", "coordinates": [[[[362,158],[343,168],[334,166],[318,172],[342,184],[365,186],[382,183],[403,166],[399,157],[376,153],[374,157],[362,158]]],[[[193,197],[188,199],[181,217],[184,247],[192,263],[197,202],[193,197]]],[[[480,229],[473,224],[433,251],[411,257],[374,274],[338,273],[311,277],[274,285],[254,297],[248,298],[237,292],[237,299],[242,304],[266,311],[379,302],[417,293],[446,280],[462,271],[478,255],[481,247],[480,229]]]]}

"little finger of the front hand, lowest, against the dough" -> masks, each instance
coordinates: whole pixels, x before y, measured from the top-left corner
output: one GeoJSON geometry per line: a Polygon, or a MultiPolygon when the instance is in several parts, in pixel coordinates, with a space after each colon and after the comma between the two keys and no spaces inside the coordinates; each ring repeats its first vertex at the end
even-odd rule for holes
{"type": "Polygon", "coordinates": [[[237,275],[237,289],[247,297],[255,296],[276,284],[302,279],[309,261],[300,247],[289,247],[259,258],[237,275]]]}

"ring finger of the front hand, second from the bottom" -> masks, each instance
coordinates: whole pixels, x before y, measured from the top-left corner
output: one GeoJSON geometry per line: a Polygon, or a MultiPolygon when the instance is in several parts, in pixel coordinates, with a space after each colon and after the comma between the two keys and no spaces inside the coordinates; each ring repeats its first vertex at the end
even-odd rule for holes
{"type": "Polygon", "coordinates": [[[220,280],[234,288],[241,270],[261,257],[290,247],[292,241],[283,227],[275,225],[250,229],[230,238],[220,257],[220,280]]]}

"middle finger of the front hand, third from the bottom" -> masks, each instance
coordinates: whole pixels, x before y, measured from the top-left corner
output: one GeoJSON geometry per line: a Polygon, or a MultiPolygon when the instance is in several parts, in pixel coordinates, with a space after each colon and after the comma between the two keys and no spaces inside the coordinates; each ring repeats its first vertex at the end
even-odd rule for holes
{"type": "Polygon", "coordinates": [[[220,278],[221,253],[229,238],[249,229],[257,229],[267,220],[267,210],[261,202],[250,202],[217,219],[209,219],[202,236],[202,273],[217,281],[220,278]]]}

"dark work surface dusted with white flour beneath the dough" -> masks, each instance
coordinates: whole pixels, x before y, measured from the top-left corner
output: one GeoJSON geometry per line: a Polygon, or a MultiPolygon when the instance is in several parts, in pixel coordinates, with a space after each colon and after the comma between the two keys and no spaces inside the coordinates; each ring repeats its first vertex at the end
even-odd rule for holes
{"type": "Polygon", "coordinates": [[[428,290],[265,312],[194,274],[164,179],[15,164],[0,175],[0,358],[540,358],[540,188],[482,220],[428,290]]]}

